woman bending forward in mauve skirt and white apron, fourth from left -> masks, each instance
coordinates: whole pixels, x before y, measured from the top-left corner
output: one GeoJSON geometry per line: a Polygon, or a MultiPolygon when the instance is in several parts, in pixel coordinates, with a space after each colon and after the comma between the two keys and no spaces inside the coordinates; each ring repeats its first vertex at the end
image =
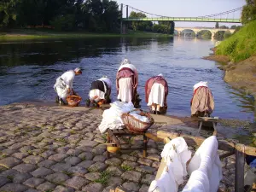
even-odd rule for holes
{"type": "Polygon", "coordinates": [[[160,114],[160,108],[167,108],[168,84],[162,74],[148,79],[145,85],[145,96],[152,113],[160,114]]]}

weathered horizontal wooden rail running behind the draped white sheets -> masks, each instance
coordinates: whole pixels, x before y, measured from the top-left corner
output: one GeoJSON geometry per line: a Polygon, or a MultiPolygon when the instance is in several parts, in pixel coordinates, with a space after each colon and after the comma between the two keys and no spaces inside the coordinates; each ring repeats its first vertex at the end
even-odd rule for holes
{"type": "MultiPolygon", "coordinates": [[[[171,139],[178,137],[178,133],[176,132],[167,132],[167,131],[157,131],[157,137],[165,139],[166,137],[170,137],[171,139]]],[[[200,146],[201,143],[205,141],[205,138],[202,137],[193,137],[186,134],[181,134],[180,137],[183,137],[186,143],[189,146],[200,146]]],[[[245,154],[256,156],[256,148],[250,146],[244,146],[241,143],[229,143],[225,140],[218,140],[218,149],[224,151],[234,151],[235,148],[239,151],[245,151],[245,154]],[[245,147],[245,148],[243,148],[245,147]]]]}

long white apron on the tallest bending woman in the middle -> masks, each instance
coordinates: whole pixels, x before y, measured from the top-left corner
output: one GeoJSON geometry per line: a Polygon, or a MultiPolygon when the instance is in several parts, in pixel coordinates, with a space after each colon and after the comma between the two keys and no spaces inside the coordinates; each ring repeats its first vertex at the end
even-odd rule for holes
{"type": "Polygon", "coordinates": [[[119,79],[119,95],[118,99],[122,102],[131,102],[132,100],[132,79],[131,78],[121,78],[119,79]]]}

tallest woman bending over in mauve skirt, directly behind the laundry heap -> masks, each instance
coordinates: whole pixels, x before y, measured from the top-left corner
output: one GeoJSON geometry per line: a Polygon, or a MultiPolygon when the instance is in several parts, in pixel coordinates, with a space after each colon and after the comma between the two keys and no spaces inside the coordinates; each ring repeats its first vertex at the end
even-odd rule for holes
{"type": "Polygon", "coordinates": [[[137,93],[137,69],[127,59],[121,62],[116,74],[116,88],[121,102],[134,102],[137,93]]]}

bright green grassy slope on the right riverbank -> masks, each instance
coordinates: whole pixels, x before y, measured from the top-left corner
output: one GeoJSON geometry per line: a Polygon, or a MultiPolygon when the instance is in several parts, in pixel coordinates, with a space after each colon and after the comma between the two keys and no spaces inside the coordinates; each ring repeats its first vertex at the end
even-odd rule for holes
{"type": "Polygon", "coordinates": [[[256,54],[256,20],[218,45],[216,55],[228,55],[231,61],[243,61],[256,54]]]}

